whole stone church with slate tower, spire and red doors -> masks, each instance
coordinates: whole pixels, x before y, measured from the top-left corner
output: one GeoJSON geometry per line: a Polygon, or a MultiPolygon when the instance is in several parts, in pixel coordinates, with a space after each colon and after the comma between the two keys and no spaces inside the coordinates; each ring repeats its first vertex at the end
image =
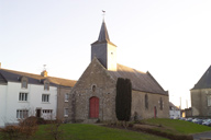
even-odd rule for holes
{"type": "Polygon", "coordinates": [[[116,120],[118,78],[132,82],[131,119],[169,117],[168,92],[149,72],[116,63],[116,46],[110,42],[103,21],[98,40],[91,44],[91,62],[70,91],[69,120],[116,120]]]}

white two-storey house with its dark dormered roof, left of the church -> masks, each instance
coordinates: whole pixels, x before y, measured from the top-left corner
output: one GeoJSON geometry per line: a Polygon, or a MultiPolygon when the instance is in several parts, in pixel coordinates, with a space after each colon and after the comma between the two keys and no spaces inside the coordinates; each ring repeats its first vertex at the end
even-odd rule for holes
{"type": "Polygon", "coordinates": [[[57,86],[63,85],[63,81],[47,77],[46,70],[40,75],[0,68],[0,127],[27,116],[55,119],[57,86]]]}

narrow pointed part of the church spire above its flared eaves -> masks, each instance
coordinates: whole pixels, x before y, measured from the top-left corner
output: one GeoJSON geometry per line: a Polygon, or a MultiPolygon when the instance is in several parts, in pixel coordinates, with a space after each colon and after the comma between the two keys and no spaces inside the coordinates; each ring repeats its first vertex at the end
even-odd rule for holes
{"type": "Polygon", "coordinates": [[[104,20],[103,20],[102,25],[101,25],[101,30],[100,30],[100,35],[98,37],[98,42],[110,42],[104,20]]]}

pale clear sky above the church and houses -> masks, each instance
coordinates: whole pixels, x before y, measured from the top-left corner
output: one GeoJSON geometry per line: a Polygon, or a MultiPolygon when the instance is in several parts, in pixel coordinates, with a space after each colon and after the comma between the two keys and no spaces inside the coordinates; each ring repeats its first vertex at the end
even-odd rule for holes
{"type": "MultiPolygon", "coordinates": [[[[118,63],[146,72],[190,107],[211,65],[211,0],[0,0],[1,68],[78,80],[90,63],[102,10],[118,63]]],[[[181,101],[181,102],[180,102],[181,101]]]]}

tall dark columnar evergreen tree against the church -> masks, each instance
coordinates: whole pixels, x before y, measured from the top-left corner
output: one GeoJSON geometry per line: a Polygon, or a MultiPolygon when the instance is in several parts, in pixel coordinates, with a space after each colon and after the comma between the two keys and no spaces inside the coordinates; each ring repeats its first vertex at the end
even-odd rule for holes
{"type": "Polygon", "coordinates": [[[129,121],[131,117],[132,84],[130,79],[116,81],[115,115],[118,120],[129,121]]]}

